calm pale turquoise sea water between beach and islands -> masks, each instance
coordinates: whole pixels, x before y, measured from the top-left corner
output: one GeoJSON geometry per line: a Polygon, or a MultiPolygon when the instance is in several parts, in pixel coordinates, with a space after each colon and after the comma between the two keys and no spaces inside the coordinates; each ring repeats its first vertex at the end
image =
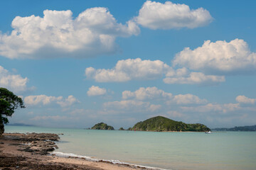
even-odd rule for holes
{"type": "Polygon", "coordinates": [[[60,135],[57,152],[162,169],[256,169],[256,132],[133,132],[6,126],[60,135]]]}

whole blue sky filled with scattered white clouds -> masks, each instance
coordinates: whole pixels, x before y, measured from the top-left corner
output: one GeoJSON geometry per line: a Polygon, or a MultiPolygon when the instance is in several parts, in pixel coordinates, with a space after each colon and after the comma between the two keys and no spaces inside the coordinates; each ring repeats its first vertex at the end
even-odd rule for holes
{"type": "Polygon", "coordinates": [[[256,124],[256,1],[1,1],[10,123],[256,124]]]}

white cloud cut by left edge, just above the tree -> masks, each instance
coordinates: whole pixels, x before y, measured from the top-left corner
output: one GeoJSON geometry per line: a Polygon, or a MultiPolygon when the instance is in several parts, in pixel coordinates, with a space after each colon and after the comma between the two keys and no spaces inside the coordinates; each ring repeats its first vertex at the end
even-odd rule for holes
{"type": "Polygon", "coordinates": [[[0,86],[14,93],[22,93],[24,91],[31,90],[33,88],[28,88],[28,78],[23,78],[18,74],[11,74],[4,67],[0,66],[0,86]]]}

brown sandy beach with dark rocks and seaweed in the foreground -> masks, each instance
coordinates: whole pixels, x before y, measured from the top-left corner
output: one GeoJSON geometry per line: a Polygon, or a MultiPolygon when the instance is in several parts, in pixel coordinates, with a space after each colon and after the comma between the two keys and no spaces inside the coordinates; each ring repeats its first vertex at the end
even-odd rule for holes
{"type": "Polygon", "coordinates": [[[0,137],[0,169],[141,169],[107,162],[92,162],[80,158],[50,155],[58,148],[58,135],[49,133],[6,133],[0,137]]]}

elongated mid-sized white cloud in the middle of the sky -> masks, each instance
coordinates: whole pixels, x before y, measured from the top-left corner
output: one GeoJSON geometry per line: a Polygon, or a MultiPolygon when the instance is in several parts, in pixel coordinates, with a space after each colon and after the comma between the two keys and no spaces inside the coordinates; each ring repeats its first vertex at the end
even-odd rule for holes
{"type": "Polygon", "coordinates": [[[85,75],[89,79],[98,82],[129,81],[132,79],[156,79],[161,78],[170,67],[160,60],[127,59],[119,60],[113,69],[85,69],[85,75]]]}

